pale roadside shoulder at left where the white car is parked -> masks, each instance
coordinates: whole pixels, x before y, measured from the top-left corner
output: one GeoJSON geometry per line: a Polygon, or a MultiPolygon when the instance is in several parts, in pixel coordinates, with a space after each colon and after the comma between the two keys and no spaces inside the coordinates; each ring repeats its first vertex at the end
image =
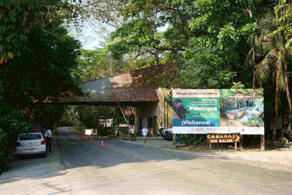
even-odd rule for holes
{"type": "Polygon", "coordinates": [[[70,191],[64,179],[64,167],[60,159],[57,140],[52,140],[53,153],[46,158],[38,155],[17,157],[10,169],[0,176],[0,194],[65,193],[70,191]]]}

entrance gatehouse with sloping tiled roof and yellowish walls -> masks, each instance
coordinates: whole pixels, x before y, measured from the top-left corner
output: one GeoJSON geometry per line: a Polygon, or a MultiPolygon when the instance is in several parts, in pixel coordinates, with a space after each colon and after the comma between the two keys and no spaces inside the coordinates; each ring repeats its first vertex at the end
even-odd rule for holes
{"type": "Polygon", "coordinates": [[[169,66],[161,64],[80,83],[85,97],[64,93],[59,101],[70,105],[132,106],[135,131],[146,125],[156,135],[160,122],[165,128],[172,126],[172,108],[165,101],[170,90],[162,88],[159,79],[169,66]]]}

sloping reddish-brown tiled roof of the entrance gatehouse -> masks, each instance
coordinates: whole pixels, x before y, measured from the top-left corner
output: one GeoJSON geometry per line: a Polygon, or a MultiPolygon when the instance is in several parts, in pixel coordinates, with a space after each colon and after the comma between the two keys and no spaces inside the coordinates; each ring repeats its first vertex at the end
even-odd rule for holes
{"type": "Polygon", "coordinates": [[[158,101],[155,89],[160,87],[158,75],[164,64],[138,69],[134,72],[80,83],[79,87],[89,97],[73,97],[66,94],[61,102],[140,102],[158,101]]]}

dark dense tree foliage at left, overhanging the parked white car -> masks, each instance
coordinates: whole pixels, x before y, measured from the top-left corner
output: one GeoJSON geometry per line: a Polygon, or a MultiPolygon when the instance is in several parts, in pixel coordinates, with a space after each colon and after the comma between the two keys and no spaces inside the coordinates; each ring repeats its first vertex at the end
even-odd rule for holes
{"type": "Polygon", "coordinates": [[[62,91],[82,95],[71,76],[80,43],[63,25],[73,21],[74,7],[60,0],[0,2],[1,163],[11,157],[7,143],[13,134],[27,132],[34,120],[52,127],[64,110],[38,103],[62,91]]]}

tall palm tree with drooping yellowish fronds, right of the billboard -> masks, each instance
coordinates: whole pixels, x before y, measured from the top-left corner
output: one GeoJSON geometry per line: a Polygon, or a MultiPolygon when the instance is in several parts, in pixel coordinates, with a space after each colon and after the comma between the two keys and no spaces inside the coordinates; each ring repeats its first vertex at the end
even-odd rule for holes
{"type": "MultiPolygon", "coordinates": [[[[280,6],[279,6],[280,7],[280,6]]],[[[291,108],[291,98],[289,92],[289,72],[287,71],[287,61],[292,57],[292,6],[285,4],[276,11],[268,12],[259,20],[259,30],[249,37],[251,50],[247,56],[247,63],[255,65],[253,88],[265,82],[271,75],[276,83],[275,117],[273,142],[276,138],[277,119],[279,109],[280,92],[286,92],[287,100],[291,108]]],[[[290,127],[290,124],[289,124],[290,127]]]]}

